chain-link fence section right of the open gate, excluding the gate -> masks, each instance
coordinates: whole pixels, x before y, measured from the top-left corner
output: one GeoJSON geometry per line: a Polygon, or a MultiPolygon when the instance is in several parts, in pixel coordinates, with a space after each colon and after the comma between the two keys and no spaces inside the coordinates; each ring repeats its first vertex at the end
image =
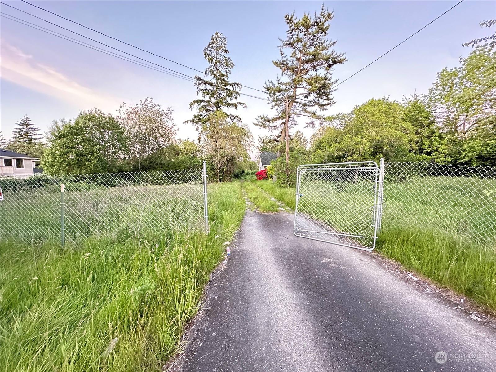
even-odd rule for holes
{"type": "Polygon", "coordinates": [[[496,248],[496,168],[386,163],[382,228],[416,227],[496,248]]]}

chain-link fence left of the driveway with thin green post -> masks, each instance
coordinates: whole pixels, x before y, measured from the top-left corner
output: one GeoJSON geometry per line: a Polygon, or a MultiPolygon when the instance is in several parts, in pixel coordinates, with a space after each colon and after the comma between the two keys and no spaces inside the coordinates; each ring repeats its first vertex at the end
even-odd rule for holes
{"type": "Polygon", "coordinates": [[[201,229],[205,186],[201,169],[0,178],[0,234],[25,243],[62,239],[63,244],[201,229]]]}

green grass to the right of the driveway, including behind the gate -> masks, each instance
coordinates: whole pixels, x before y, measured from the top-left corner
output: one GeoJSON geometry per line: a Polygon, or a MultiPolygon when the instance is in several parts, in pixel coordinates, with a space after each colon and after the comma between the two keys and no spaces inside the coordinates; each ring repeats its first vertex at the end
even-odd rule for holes
{"type": "MultiPolygon", "coordinates": [[[[295,188],[277,190],[266,186],[266,181],[255,184],[287,206],[294,205],[295,198],[287,198],[295,194],[295,188]]],[[[464,177],[386,181],[377,251],[496,310],[496,194],[487,191],[492,189],[496,189],[495,180],[464,177]]],[[[300,198],[302,207],[341,231],[361,228],[350,216],[372,220],[357,185],[337,190],[314,181],[300,191],[319,194],[311,202],[300,198]],[[329,198],[340,200],[333,202],[339,210],[323,213],[329,198]]]]}

